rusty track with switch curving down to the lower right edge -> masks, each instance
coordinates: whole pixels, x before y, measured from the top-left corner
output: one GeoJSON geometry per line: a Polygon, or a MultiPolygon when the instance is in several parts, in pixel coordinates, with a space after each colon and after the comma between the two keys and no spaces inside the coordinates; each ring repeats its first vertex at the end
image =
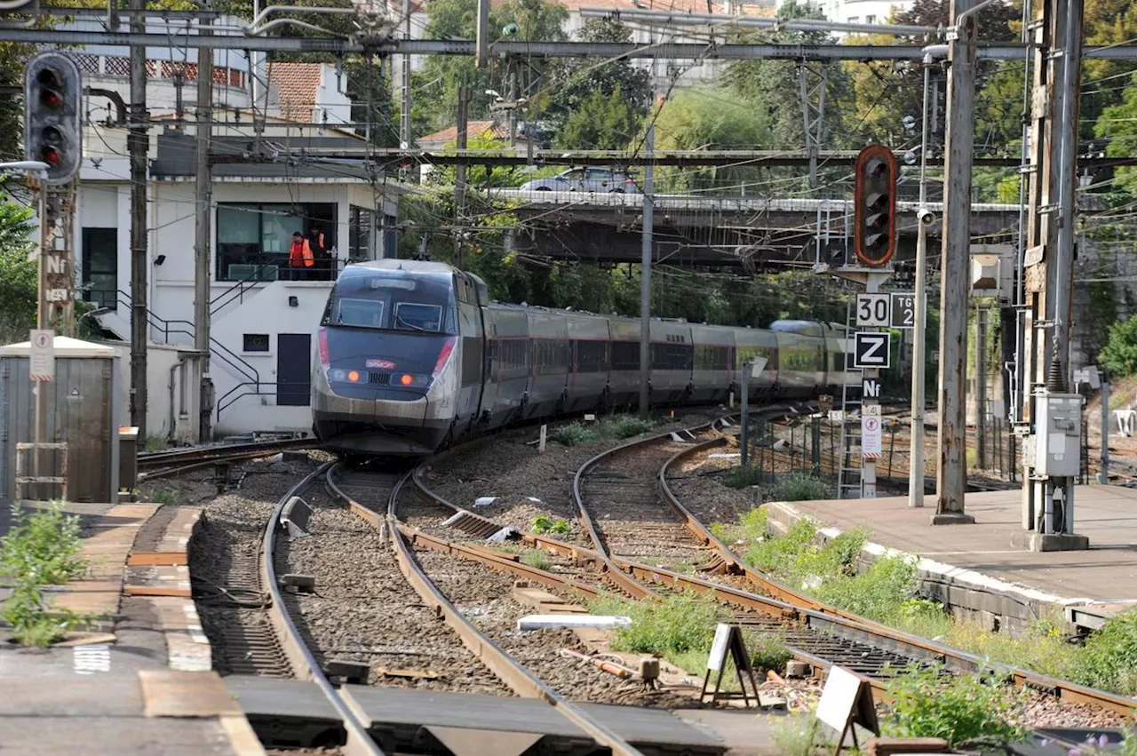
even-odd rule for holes
{"type": "MultiPolygon", "coordinates": [[[[770,408],[769,412],[781,410],[783,408],[770,408]]],[[[689,430],[692,437],[708,434],[708,426],[689,430]]],[[[587,580],[566,578],[521,565],[508,555],[493,554],[490,549],[468,541],[449,540],[405,524],[397,526],[415,543],[458,554],[562,591],[596,596],[599,585],[608,583],[616,585],[628,596],[647,600],[658,597],[661,592],[675,590],[709,595],[716,601],[730,606],[736,612],[737,620],[752,625],[756,632],[779,633],[797,658],[819,670],[827,670],[833,664],[852,668],[881,693],[887,693],[886,667],[903,667],[912,662],[940,663],[945,668],[956,672],[994,668],[1016,684],[1052,696],[1063,704],[1089,706],[1121,717],[1132,716],[1134,707],[1137,705],[1134,699],[1026,670],[990,664],[986,659],[957,649],[839,612],[747,567],[675,498],[666,484],[666,470],[678,458],[692,454],[698,447],[721,442],[719,439],[704,438],[702,443],[688,445],[677,451],[671,443],[671,434],[653,437],[611,449],[594,457],[578,471],[574,493],[584,530],[594,541],[592,547],[583,548],[530,533],[521,534],[521,539],[531,548],[541,549],[572,563],[590,565],[587,580]],[[630,457],[632,464],[626,467],[621,466],[619,464],[621,456],[630,457]],[[653,470],[652,465],[655,463],[659,464],[653,470]],[[653,485],[657,487],[654,502],[653,485]],[[626,501],[616,501],[625,497],[626,501]],[[613,507],[611,510],[605,509],[605,501],[613,507]],[[634,505],[631,507],[632,512],[637,507],[641,512],[628,515],[629,501],[634,505]],[[650,508],[650,514],[642,512],[646,508],[650,508]],[[667,509],[672,518],[670,524],[665,524],[664,518],[667,509]],[[638,560],[636,557],[644,556],[641,554],[644,549],[639,543],[646,541],[642,537],[639,539],[634,535],[625,537],[621,523],[633,521],[620,521],[615,515],[621,512],[628,517],[634,516],[640,521],[650,518],[661,533],[678,533],[674,530],[675,524],[678,523],[680,527],[686,525],[689,534],[678,535],[679,548],[665,553],[664,556],[667,558],[696,556],[694,562],[704,567],[703,575],[683,574],[638,560]],[[612,516],[604,517],[605,514],[612,516]],[[598,522],[603,524],[598,525],[598,522]],[[746,581],[758,592],[739,588],[740,580],[746,581]]],[[[420,488],[421,493],[455,513],[448,522],[462,531],[458,538],[484,538],[501,529],[499,523],[454,505],[434,493],[417,472],[412,474],[410,480],[420,488]]],[[[664,548],[656,549],[656,554],[664,548]]]]}

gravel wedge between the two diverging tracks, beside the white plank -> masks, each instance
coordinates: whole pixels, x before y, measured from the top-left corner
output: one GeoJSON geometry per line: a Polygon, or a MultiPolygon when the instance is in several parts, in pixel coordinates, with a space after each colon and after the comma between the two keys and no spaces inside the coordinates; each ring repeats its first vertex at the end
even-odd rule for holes
{"type": "Polygon", "coordinates": [[[563,648],[587,654],[588,648],[568,630],[522,632],[517,620],[536,609],[513,600],[513,580],[475,562],[437,551],[416,553],[423,570],[482,632],[566,698],[595,704],[649,707],[691,706],[690,696],[645,689],[591,664],[564,658],[563,648]]]}

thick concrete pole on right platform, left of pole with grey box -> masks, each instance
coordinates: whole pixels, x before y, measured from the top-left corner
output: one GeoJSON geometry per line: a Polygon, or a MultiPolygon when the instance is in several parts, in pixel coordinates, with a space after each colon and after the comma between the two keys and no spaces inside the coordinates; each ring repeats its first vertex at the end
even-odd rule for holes
{"type": "Polygon", "coordinates": [[[968,267],[971,254],[971,165],[974,135],[973,0],[952,0],[957,19],[948,42],[947,150],[944,159],[944,246],[940,257],[939,471],[932,524],[973,523],[966,491],[968,267]]]}

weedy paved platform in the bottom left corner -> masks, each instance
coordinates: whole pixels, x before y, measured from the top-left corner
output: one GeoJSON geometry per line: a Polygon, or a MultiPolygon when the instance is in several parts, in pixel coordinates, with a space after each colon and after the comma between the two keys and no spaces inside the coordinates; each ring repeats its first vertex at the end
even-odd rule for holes
{"type": "MultiPolygon", "coordinates": [[[[91,568],[53,587],[52,606],[97,615],[99,626],[47,649],[16,646],[0,626],[0,751],[263,755],[239,706],[209,671],[192,599],[168,592],[181,588],[177,575],[155,572],[186,563],[186,535],[200,513],[167,508],[161,516],[156,513],[163,508],[149,504],[66,509],[81,515],[91,568]],[[136,545],[150,555],[142,572],[128,566],[140,553],[136,545]]],[[[7,507],[0,517],[2,535],[7,507]]]]}

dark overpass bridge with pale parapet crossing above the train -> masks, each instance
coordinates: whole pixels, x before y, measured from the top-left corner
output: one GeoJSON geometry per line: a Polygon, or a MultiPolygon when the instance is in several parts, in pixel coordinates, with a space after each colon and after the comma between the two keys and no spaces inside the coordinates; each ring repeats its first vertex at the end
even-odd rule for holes
{"type": "MultiPolygon", "coordinates": [[[[522,191],[482,192],[482,201],[509,208],[522,222],[514,249],[551,258],[638,263],[644,197],[639,193],[522,191]]],[[[655,194],[655,260],[671,265],[740,266],[747,269],[830,266],[852,258],[853,200],[655,194]],[[820,246],[820,250],[819,250],[820,246]]],[[[915,258],[916,202],[899,201],[898,267],[915,258]]],[[[941,202],[929,250],[938,256],[941,202]]],[[[972,205],[976,242],[1010,241],[1019,227],[1018,205],[972,205]]]]}

